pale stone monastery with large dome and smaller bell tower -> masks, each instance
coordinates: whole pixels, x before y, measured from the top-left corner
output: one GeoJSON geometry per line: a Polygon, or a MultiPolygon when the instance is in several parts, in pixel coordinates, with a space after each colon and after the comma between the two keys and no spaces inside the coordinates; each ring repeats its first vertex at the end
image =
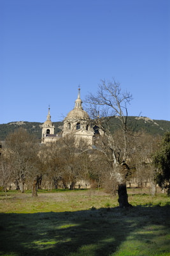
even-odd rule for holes
{"type": "Polygon", "coordinates": [[[85,141],[89,146],[92,146],[94,129],[89,115],[83,110],[82,103],[80,99],[80,88],[78,88],[78,98],[75,100],[74,109],[64,118],[61,134],[55,134],[55,127],[52,124],[50,116],[50,108],[48,108],[46,121],[42,125],[41,143],[56,142],[65,136],[74,136],[75,141],[85,141]]]}

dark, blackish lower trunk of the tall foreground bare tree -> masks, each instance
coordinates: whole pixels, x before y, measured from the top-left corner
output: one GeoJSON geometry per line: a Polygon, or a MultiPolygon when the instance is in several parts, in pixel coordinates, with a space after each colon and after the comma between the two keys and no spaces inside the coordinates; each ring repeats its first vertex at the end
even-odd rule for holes
{"type": "Polygon", "coordinates": [[[118,184],[118,203],[120,208],[132,207],[128,202],[126,184],[118,184]]]}

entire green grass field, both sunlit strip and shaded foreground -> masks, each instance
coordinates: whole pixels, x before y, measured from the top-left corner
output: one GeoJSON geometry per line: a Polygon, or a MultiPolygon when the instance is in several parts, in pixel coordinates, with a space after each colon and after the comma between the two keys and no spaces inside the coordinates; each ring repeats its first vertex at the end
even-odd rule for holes
{"type": "Polygon", "coordinates": [[[169,256],[170,200],[128,189],[118,209],[102,190],[0,193],[0,255],[169,256]]]}

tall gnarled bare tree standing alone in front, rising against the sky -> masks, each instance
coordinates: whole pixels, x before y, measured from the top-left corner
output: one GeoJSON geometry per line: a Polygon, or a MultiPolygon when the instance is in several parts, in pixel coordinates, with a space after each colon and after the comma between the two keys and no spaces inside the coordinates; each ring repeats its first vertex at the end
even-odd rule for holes
{"type": "Polygon", "coordinates": [[[96,127],[96,148],[103,152],[110,163],[110,179],[115,178],[118,186],[118,203],[120,207],[131,206],[128,202],[126,179],[130,172],[128,166],[128,140],[131,131],[127,125],[127,104],[132,100],[131,93],[122,92],[115,80],[106,83],[101,81],[96,95],[90,93],[86,102],[96,127]],[[110,116],[115,116],[119,136],[110,131],[110,116]],[[107,123],[107,125],[106,125],[107,123]]]}

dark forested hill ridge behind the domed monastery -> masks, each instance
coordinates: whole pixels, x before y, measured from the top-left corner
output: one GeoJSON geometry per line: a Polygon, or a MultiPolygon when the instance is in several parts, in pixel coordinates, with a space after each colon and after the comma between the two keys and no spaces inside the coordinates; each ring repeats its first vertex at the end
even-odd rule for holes
{"type": "MultiPolygon", "coordinates": [[[[110,127],[111,130],[114,131],[115,127],[117,127],[118,118],[111,117],[110,118],[110,127]]],[[[6,136],[14,132],[19,127],[23,127],[29,133],[32,133],[36,136],[39,141],[41,140],[41,127],[43,123],[38,122],[11,122],[8,124],[0,124],[0,141],[5,140],[6,136]]],[[[58,133],[62,129],[62,122],[53,122],[55,125],[55,133],[58,133]]],[[[170,132],[170,121],[165,120],[152,120],[147,117],[136,117],[136,116],[128,116],[128,124],[134,129],[135,131],[144,131],[149,134],[153,135],[163,135],[164,132],[170,132]]]]}

